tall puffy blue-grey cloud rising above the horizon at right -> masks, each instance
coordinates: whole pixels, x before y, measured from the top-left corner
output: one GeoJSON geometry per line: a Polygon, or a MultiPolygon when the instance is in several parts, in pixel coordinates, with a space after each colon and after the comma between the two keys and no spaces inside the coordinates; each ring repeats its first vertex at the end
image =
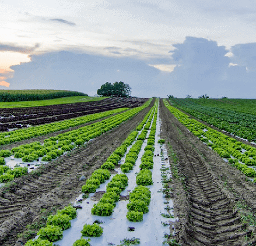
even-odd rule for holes
{"type": "Polygon", "coordinates": [[[255,44],[234,45],[231,49],[233,56],[226,56],[229,51],[225,47],[205,38],[186,37],[183,43],[173,47],[176,49],[170,54],[177,66],[169,77],[173,87],[171,94],[176,97],[192,94],[195,98],[205,93],[213,98],[222,95],[255,98],[256,74],[246,71],[246,66],[250,70],[256,67],[255,44]],[[246,59],[249,53],[251,58],[246,59]],[[237,66],[230,66],[230,63],[237,66]]]}

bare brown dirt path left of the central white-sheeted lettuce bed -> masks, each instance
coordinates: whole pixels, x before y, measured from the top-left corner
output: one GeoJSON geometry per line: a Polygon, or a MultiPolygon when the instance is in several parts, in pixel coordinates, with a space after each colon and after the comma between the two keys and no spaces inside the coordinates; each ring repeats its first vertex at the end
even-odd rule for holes
{"type": "Polygon", "coordinates": [[[48,213],[64,208],[80,194],[85,181],[82,175],[98,169],[108,156],[121,145],[132,130],[143,120],[154,104],[139,112],[115,129],[90,141],[86,146],[76,148],[35,173],[15,179],[15,184],[0,190],[0,245],[23,245],[26,240],[17,235],[23,233],[27,224],[40,223],[48,213]]]}

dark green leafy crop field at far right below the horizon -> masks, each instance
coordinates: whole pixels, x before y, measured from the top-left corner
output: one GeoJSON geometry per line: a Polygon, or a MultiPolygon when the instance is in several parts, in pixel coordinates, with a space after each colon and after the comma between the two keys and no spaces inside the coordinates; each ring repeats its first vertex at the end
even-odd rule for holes
{"type": "Polygon", "coordinates": [[[256,142],[256,100],[171,99],[171,104],[234,136],[256,142]]]}

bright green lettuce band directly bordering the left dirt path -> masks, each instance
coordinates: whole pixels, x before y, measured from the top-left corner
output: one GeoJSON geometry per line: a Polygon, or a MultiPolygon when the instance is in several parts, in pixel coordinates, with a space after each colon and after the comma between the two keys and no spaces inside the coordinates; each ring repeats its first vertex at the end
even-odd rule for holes
{"type": "MultiPolygon", "coordinates": [[[[80,127],[77,130],[68,131],[55,137],[46,138],[44,142],[31,142],[30,144],[19,145],[19,147],[0,151],[0,165],[5,165],[5,158],[13,155],[15,158],[22,158],[23,162],[32,162],[43,157],[41,161],[51,161],[58,158],[66,151],[71,151],[78,145],[100,136],[106,131],[120,125],[125,120],[133,117],[136,113],[149,106],[152,99],[149,99],[144,105],[127,110],[115,116],[111,116],[100,122],[90,124],[89,126],[80,127]]],[[[0,182],[6,183],[15,177],[20,177],[27,173],[27,167],[15,167],[11,170],[9,167],[0,166],[0,182]],[[21,172],[22,170],[22,172],[21,172]]]]}

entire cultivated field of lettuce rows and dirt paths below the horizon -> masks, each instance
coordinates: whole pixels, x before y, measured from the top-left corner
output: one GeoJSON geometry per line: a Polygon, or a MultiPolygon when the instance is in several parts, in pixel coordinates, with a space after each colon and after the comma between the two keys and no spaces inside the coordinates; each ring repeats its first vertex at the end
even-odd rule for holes
{"type": "Polygon", "coordinates": [[[253,99],[65,100],[0,109],[0,245],[256,245],[253,99]]]}

